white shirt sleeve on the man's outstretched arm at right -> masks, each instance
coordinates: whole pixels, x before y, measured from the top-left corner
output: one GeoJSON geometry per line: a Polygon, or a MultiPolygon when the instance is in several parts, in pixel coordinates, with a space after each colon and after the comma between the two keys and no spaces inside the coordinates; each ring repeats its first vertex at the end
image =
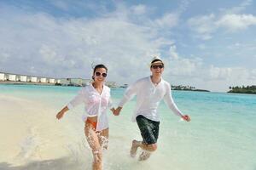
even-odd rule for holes
{"type": "Polygon", "coordinates": [[[172,89],[170,84],[166,87],[166,95],[164,96],[164,100],[166,105],[172,110],[172,112],[177,116],[183,116],[183,113],[177,109],[177,105],[174,103],[172,99],[172,89]]]}

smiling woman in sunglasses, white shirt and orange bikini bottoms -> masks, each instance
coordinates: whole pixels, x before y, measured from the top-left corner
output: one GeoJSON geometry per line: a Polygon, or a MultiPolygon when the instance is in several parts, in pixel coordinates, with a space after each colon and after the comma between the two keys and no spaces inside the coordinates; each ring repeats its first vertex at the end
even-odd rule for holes
{"type": "MultiPolygon", "coordinates": [[[[96,65],[93,71],[93,82],[79,91],[79,94],[69,102],[57,115],[61,119],[66,111],[84,103],[84,133],[93,154],[94,170],[102,169],[102,148],[108,148],[108,117],[107,109],[112,106],[110,88],[104,85],[108,68],[105,65],[96,65]]],[[[114,112],[114,108],[110,109],[114,112]]]]}

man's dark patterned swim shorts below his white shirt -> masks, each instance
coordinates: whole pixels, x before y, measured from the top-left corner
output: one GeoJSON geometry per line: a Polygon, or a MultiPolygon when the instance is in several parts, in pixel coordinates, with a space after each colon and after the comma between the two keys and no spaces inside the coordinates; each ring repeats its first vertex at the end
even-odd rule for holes
{"type": "Polygon", "coordinates": [[[145,144],[155,144],[158,139],[160,122],[151,121],[145,116],[136,117],[137,126],[140,128],[143,142],[145,144]]]}

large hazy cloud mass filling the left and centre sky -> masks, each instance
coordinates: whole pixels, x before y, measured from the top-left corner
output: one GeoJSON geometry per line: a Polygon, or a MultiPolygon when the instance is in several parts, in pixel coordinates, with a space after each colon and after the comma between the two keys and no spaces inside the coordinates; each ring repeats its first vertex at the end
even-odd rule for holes
{"type": "Polygon", "coordinates": [[[2,56],[9,56],[1,63],[6,71],[90,77],[90,64],[102,62],[113,71],[108,78],[131,82],[131,75],[142,77],[148,71],[149,56],[171,43],[156,28],[138,26],[126,17],[117,20],[115,14],[88,20],[16,12],[2,12],[0,20],[2,56]]]}

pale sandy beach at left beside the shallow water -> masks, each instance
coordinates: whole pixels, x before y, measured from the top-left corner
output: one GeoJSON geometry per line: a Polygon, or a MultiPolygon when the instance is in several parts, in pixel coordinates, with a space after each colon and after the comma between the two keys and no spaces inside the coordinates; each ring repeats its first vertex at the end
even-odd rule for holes
{"type": "Polygon", "coordinates": [[[60,122],[55,114],[55,109],[37,101],[1,94],[0,163],[20,166],[70,156],[68,145],[76,139],[65,126],[67,119],[60,122]]]}

